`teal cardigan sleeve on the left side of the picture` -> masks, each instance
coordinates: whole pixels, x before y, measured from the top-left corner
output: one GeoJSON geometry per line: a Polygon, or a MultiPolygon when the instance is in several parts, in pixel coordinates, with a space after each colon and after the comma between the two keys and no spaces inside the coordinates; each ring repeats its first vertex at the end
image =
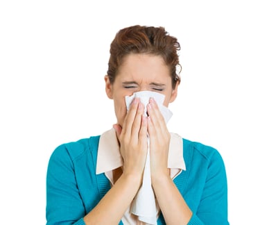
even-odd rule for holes
{"type": "Polygon", "coordinates": [[[85,208],[66,145],[53,151],[46,176],[46,224],[83,225],[85,208]]]}

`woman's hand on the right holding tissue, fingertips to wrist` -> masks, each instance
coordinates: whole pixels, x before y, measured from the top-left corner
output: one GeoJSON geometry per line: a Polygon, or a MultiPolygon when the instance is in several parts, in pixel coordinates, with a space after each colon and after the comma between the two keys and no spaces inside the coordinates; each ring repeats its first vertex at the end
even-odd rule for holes
{"type": "Polygon", "coordinates": [[[164,117],[153,98],[150,98],[147,110],[151,178],[162,175],[167,176],[169,175],[167,163],[171,135],[166,127],[164,117]]]}

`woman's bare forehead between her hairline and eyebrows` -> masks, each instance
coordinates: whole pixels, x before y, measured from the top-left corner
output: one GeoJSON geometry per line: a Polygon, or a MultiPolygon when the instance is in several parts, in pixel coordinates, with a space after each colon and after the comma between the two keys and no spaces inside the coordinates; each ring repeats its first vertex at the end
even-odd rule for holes
{"type": "Polygon", "coordinates": [[[136,53],[125,56],[117,77],[120,80],[155,79],[164,81],[170,78],[170,74],[162,56],[136,53]]]}

